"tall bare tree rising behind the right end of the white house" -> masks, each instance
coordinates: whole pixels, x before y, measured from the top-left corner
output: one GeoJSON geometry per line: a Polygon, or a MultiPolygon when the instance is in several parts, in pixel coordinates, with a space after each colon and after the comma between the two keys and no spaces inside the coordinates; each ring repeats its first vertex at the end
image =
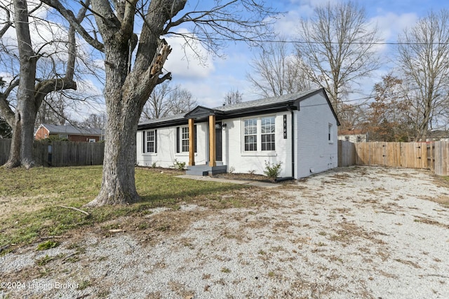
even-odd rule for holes
{"type": "MultiPolygon", "coordinates": [[[[302,19],[297,55],[308,66],[307,77],[325,88],[337,116],[354,83],[379,67],[375,44],[377,29],[354,2],[318,6],[310,19],[302,19]]],[[[342,120],[340,120],[342,121],[342,120]]]]}

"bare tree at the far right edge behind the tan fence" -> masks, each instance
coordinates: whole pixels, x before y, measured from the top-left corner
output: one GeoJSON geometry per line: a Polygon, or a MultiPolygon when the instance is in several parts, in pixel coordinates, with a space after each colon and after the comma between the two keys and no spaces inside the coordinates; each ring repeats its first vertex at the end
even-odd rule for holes
{"type": "Polygon", "coordinates": [[[425,141],[449,99],[449,11],[430,12],[398,40],[398,64],[414,86],[407,97],[417,113],[416,138],[425,141]]]}

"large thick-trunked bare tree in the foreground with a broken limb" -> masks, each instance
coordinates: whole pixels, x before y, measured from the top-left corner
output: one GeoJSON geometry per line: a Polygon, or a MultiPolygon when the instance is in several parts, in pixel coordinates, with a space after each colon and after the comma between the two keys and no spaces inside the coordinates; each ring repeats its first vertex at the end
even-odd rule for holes
{"type": "Polygon", "coordinates": [[[200,43],[206,50],[217,53],[229,39],[260,39],[267,29],[263,20],[269,20],[271,13],[253,0],[215,1],[211,8],[186,10],[182,14],[187,0],[92,0],[94,32],[101,35],[100,42],[76,22],[62,1],[42,1],[67,18],[91,46],[105,53],[108,114],[105,160],[100,193],[89,203],[91,206],[139,200],[134,179],[138,120],[154,87],[171,78],[170,73],[163,74],[171,51],[163,36],[182,36],[187,46],[200,43]],[[142,18],[141,22],[135,22],[136,15],[142,18]],[[133,34],[138,25],[139,36],[133,34]],[[180,25],[192,25],[190,33],[177,31],[180,25]],[[136,46],[137,52],[131,60],[136,46]]]}

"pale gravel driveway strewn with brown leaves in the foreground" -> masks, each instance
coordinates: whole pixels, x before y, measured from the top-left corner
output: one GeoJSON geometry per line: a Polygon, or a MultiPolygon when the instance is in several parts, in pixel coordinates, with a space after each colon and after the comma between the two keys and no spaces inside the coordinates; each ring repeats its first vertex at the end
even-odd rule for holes
{"type": "Polygon", "coordinates": [[[0,280],[19,284],[0,298],[449,298],[449,208],[431,201],[449,189],[430,172],[345,167],[270,193],[145,218],[180,230],[86,230],[8,253],[0,280]]]}

